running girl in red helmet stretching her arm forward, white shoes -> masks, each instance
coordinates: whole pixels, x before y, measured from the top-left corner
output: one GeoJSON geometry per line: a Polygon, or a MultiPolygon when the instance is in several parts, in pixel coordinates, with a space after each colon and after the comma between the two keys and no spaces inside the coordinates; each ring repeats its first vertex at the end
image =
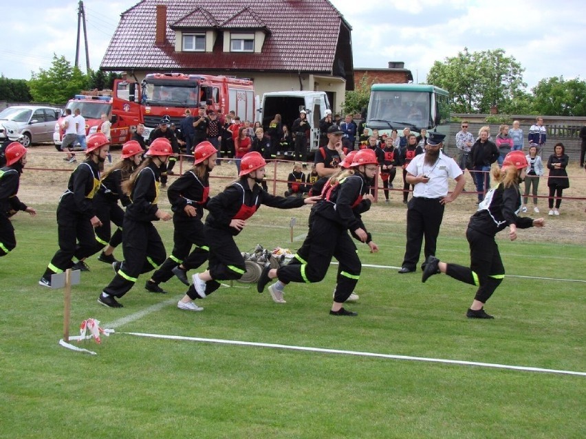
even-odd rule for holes
{"type": "Polygon", "coordinates": [[[265,176],[265,165],[265,159],[259,153],[247,153],[240,163],[240,178],[208,202],[204,232],[210,247],[209,265],[203,273],[192,276],[193,284],[186,293],[190,299],[204,298],[216,291],[220,286],[216,279],[240,279],[246,272],[234,236],[246,227],[246,220],[262,204],[291,209],[320,199],[320,196],[284,198],[265,192],[259,185],[265,176]]]}

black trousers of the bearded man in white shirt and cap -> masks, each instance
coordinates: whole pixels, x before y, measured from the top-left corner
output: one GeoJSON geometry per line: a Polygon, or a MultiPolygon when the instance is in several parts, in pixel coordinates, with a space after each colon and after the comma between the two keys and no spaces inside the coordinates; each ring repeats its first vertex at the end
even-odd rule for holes
{"type": "Polygon", "coordinates": [[[413,196],[407,205],[407,243],[402,267],[415,270],[425,238],[424,255],[435,256],[439,226],[444,218],[444,205],[439,198],[413,196]]]}

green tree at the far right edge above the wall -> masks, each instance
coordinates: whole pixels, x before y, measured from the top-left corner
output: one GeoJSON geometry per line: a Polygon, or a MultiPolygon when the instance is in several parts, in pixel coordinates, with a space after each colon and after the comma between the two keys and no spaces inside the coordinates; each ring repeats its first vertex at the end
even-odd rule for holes
{"type": "Polygon", "coordinates": [[[586,115],[586,81],[544,78],[532,88],[534,114],[556,116],[586,115]]]}

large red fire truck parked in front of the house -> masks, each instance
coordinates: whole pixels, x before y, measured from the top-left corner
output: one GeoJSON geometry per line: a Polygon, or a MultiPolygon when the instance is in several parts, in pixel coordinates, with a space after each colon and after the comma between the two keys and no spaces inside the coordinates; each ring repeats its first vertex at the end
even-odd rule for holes
{"type": "Polygon", "coordinates": [[[113,90],[113,112],[120,117],[139,115],[145,126],[144,137],[149,137],[160,120],[168,116],[179,124],[190,109],[197,115],[199,106],[215,111],[224,120],[233,110],[241,120],[254,120],[254,86],[252,80],[231,76],[198,74],[148,74],[144,80],[131,82],[116,80],[113,90]]]}

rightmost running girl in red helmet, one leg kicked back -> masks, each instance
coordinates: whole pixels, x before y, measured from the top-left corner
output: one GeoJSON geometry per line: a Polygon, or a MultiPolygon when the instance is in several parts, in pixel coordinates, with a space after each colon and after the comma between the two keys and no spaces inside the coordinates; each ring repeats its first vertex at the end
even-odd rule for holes
{"type": "Polygon", "coordinates": [[[466,317],[470,319],[494,318],[484,311],[484,304],[505,277],[495,235],[508,226],[509,238],[514,241],[517,239],[518,228],[544,225],[543,218],[534,220],[516,214],[521,207],[519,181],[525,177],[527,166],[523,153],[514,151],[505,158],[502,169],[495,168],[493,171],[499,185],[491,189],[486,199],[480,203],[477,212],[470,217],[466,230],[466,239],[470,245],[470,267],[440,262],[435,256],[426,259],[422,282],[431,275],[446,273],[460,282],[478,286],[472,305],[466,311],[466,317]]]}

